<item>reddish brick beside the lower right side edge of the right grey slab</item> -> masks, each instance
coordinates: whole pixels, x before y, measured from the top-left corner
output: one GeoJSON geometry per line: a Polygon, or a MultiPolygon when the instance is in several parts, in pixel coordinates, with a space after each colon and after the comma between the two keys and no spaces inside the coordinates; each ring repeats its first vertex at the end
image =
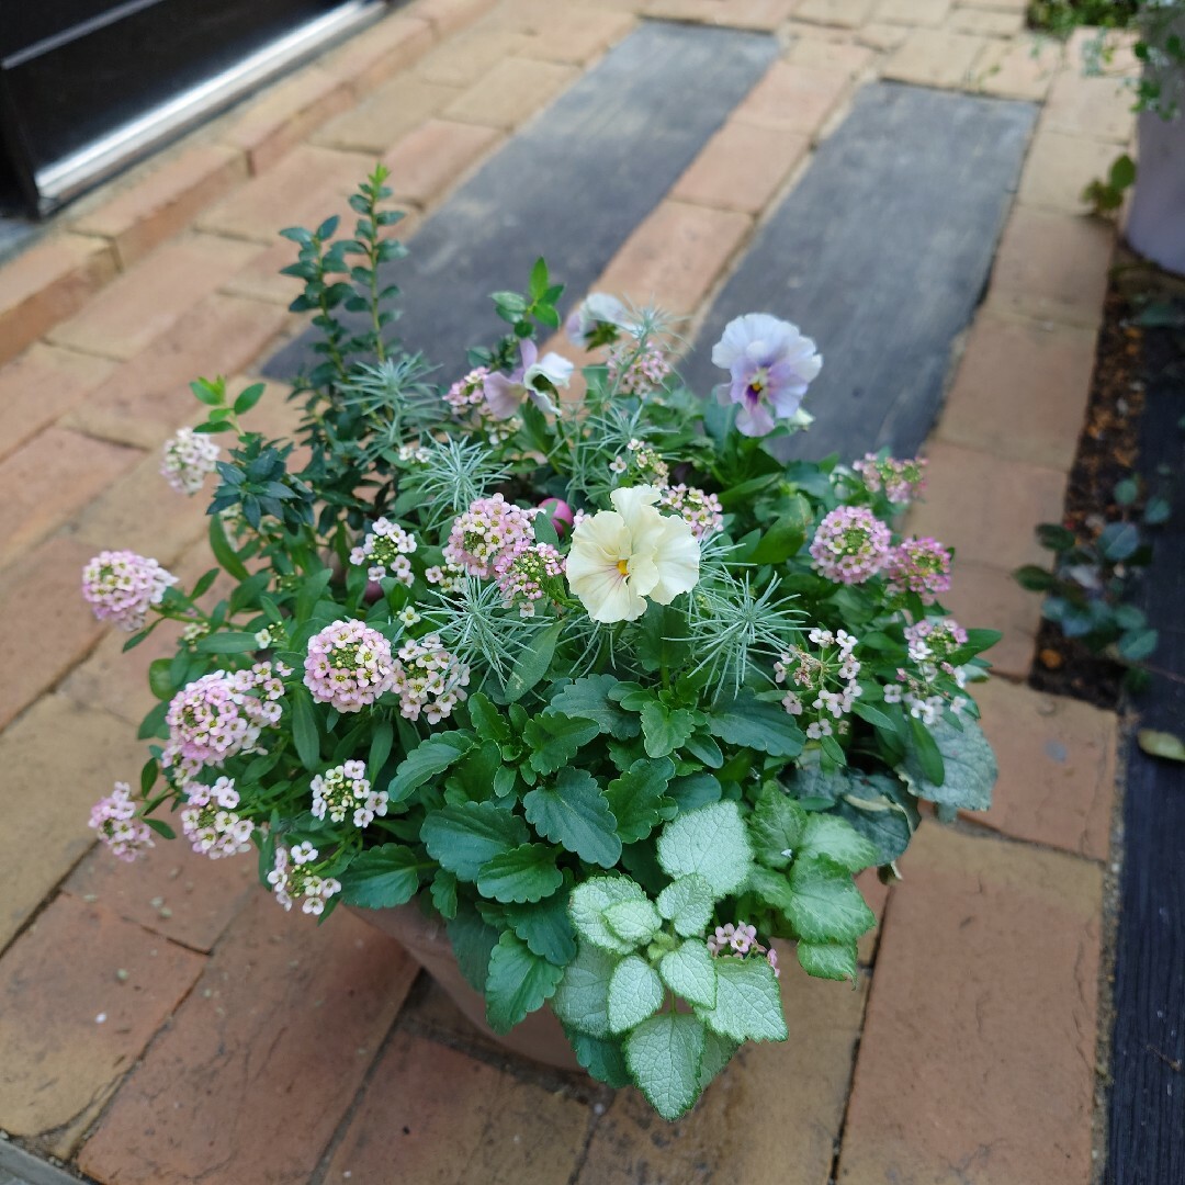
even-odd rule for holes
{"type": "Polygon", "coordinates": [[[1090,329],[984,312],[967,340],[937,434],[952,444],[1069,470],[1094,361],[1090,329]]]}

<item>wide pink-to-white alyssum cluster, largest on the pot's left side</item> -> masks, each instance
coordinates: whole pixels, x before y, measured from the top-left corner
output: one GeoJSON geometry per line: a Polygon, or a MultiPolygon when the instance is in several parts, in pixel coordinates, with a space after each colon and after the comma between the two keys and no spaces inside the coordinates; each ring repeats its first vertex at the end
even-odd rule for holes
{"type": "Polygon", "coordinates": [[[263,729],[281,717],[278,700],[290,674],[282,662],[257,662],[249,671],[211,671],[182,687],[165,716],[168,744],[161,764],[188,781],[203,768],[256,750],[263,729]]]}

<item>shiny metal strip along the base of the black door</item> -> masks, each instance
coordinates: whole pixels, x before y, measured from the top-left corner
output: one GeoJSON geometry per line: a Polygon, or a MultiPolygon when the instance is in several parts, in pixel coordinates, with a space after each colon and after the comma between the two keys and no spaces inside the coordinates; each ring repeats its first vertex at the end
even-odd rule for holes
{"type": "Polygon", "coordinates": [[[98,184],[134,159],[143,156],[245,94],[313,57],[332,41],[376,20],[384,0],[347,0],[324,17],[286,33],[250,57],[167,103],[129,120],[101,140],[38,169],[36,181],[43,212],[98,184]]]}

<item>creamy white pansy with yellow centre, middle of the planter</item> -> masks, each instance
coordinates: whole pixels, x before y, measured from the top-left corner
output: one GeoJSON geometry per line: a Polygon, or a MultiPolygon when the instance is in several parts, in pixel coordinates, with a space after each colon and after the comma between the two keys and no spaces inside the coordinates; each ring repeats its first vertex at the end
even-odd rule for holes
{"type": "Polygon", "coordinates": [[[654,486],[615,489],[614,510],[582,519],[568,583],[594,621],[633,621],[646,598],[670,604],[699,579],[699,542],[683,518],[660,514],[654,486]]]}

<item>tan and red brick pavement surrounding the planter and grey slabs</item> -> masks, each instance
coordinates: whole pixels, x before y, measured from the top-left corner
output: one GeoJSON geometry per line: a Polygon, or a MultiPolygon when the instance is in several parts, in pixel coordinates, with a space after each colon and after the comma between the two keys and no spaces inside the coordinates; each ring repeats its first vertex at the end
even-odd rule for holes
{"type": "Polygon", "coordinates": [[[1031,43],[1023,9],[418,0],[0,268],[0,1180],[59,1179],[17,1144],[103,1185],[1091,1179],[1116,722],[1021,685],[1038,602],[1008,569],[1061,506],[1114,239],[1077,192],[1132,120],[1075,46],[1031,43]],[[959,616],[1005,630],[982,694],[997,803],[923,824],[904,880],[873,886],[858,991],[784,976],[790,1042],[745,1052],[673,1128],[630,1091],[492,1051],[387,939],[280,914],[250,867],[88,851],[89,803],[137,768],[139,680],[167,643],[123,659],[76,591],[101,546],[200,570],[200,508],[154,485],[155,449],[192,415],[188,379],[249,374],[293,331],[275,231],[340,207],[377,154],[430,212],[647,17],[784,46],[604,269],[693,324],[861,82],[1044,104],[912,524],[959,545],[959,616]],[[725,178],[747,161],[742,192],[725,178]]]}

